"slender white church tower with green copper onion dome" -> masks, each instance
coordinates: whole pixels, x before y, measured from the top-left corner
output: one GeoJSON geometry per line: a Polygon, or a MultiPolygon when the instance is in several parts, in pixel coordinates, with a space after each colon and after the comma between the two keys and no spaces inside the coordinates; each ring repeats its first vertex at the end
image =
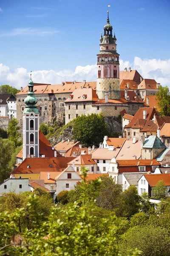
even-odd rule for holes
{"type": "Polygon", "coordinates": [[[33,81],[28,84],[27,97],[24,100],[26,108],[23,111],[23,160],[30,157],[39,157],[39,115],[33,92],[33,81]]]}

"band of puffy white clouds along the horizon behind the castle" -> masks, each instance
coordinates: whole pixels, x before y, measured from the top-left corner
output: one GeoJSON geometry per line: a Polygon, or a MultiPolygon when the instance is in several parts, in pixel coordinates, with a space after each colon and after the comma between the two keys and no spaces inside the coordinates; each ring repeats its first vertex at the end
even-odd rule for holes
{"type": "MultiPolygon", "coordinates": [[[[155,79],[163,86],[170,86],[170,59],[141,59],[135,57],[133,63],[120,60],[120,70],[131,67],[137,69],[143,78],[155,79]]],[[[32,79],[37,83],[60,84],[62,81],[96,81],[96,64],[85,67],[77,66],[72,70],[37,70],[32,72],[32,79]]],[[[30,79],[30,72],[20,67],[10,70],[9,67],[0,64],[0,83],[10,84],[16,88],[25,87],[30,79]]]]}

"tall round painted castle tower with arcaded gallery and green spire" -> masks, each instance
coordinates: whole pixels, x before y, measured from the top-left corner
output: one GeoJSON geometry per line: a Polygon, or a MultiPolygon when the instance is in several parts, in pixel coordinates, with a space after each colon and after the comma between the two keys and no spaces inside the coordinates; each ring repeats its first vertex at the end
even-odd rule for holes
{"type": "Polygon", "coordinates": [[[100,52],[97,54],[97,86],[99,99],[120,99],[119,54],[116,52],[116,36],[112,35],[113,27],[109,22],[104,26],[104,35],[100,37],[100,52]]]}

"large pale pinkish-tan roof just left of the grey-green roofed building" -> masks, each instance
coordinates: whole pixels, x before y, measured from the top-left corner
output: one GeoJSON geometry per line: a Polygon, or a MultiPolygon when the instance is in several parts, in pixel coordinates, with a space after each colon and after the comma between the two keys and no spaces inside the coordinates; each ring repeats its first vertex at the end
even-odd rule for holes
{"type": "Polygon", "coordinates": [[[133,160],[141,157],[141,141],[137,140],[133,143],[133,140],[125,140],[125,143],[120,148],[119,153],[116,156],[116,160],[133,160]]]}

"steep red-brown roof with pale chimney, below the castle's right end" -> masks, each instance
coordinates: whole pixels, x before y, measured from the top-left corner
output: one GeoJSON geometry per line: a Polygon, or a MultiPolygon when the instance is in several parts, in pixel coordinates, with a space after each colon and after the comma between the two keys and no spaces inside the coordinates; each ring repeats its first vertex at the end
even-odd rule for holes
{"type": "MultiPolygon", "coordinates": [[[[125,126],[125,128],[131,128],[138,119],[143,119],[143,111],[146,110],[147,115],[146,119],[147,120],[152,120],[154,114],[157,114],[155,108],[139,108],[136,114],[133,116],[133,119],[125,126]]],[[[145,119],[143,119],[145,120],[145,119]]]]}

